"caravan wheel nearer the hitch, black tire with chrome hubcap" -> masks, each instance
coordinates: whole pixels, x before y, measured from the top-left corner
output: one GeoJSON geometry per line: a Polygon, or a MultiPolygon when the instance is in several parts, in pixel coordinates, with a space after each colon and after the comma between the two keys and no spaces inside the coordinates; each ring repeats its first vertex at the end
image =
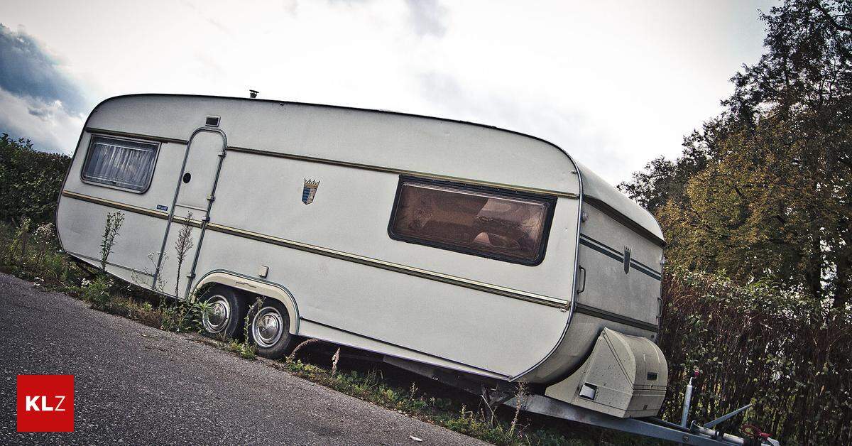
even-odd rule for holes
{"type": "Polygon", "coordinates": [[[296,336],[290,333],[290,313],[276,299],[264,298],[252,305],[249,324],[249,341],[260,356],[279,359],[296,346],[296,336]]]}

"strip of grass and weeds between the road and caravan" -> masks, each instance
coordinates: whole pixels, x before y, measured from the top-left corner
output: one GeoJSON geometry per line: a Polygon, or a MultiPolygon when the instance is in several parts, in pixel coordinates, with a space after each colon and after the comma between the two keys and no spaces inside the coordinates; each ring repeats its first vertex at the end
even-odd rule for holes
{"type": "MultiPolygon", "coordinates": [[[[36,287],[67,293],[105,311],[176,333],[198,333],[203,304],[166,301],[158,294],[113,281],[96,269],[80,266],[59,252],[52,225],[30,228],[0,223],[0,270],[32,281],[36,287]],[[32,234],[31,234],[32,233],[32,234]]],[[[245,327],[248,327],[246,316],[245,327]]],[[[244,339],[249,339],[244,332],[244,339]]],[[[219,339],[213,344],[247,360],[256,345],[219,339]]],[[[499,445],[653,444],[639,437],[501,407],[493,412],[479,397],[409,374],[381,362],[346,360],[341,348],[315,339],[297,345],[290,356],[268,362],[276,368],[352,397],[413,418],[499,445]],[[337,350],[334,350],[337,349],[337,350]]],[[[347,350],[348,352],[348,350],[347,350]]],[[[352,350],[353,354],[358,352],[352,350]]],[[[348,355],[353,356],[353,355],[348,355]]],[[[521,388],[518,395],[526,392],[521,388]]]]}

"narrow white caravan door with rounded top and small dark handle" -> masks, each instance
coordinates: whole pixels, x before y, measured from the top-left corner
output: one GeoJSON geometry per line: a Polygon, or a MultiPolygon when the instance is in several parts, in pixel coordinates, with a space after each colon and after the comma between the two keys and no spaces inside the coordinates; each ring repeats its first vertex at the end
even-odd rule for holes
{"type": "Polygon", "coordinates": [[[225,132],[214,127],[195,130],[187,142],[154,272],[157,291],[186,298],[192,287],[226,148],[225,132]]]}

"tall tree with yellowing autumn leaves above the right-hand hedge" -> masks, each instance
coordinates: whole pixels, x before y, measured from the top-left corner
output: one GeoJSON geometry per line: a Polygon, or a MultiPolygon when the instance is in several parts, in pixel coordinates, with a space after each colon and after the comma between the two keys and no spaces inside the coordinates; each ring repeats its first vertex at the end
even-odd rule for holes
{"type": "Polygon", "coordinates": [[[787,0],[725,111],[621,185],[659,218],[667,257],[835,307],[852,280],[852,2],[787,0]]]}

